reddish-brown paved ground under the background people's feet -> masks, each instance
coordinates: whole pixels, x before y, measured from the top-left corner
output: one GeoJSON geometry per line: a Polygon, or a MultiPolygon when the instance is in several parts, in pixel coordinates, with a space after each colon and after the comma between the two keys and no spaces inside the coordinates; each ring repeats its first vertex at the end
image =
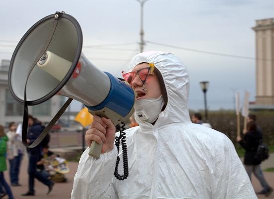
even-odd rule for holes
{"type": "MultiPolygon", "coordinates": [[[[76,173],[78,163],[69,162],[70,173],[66,174],[68,179],[67,183],[56,183],[53,187],[52,192],[46,195],[48,188],[35,180],[35,196],[34,197],[22,197],[21,194],[27,191],[28,175],[27,175],[27,158],[25,157],[22,161],[21,172],[20,172],[20,184],[21,187],[11,187],[15,199],[70,199],[70,193],[73,187],[73,177],[76,173]]],[[[274,167],[274,154],[271,154],[269,160],[263,162],[262,168],[274,167]]],[[[264,172],[265,178],[268,183],[274,188],[274,172],[264,172]]],[[[8,173],[4,172],[5,179],[9,183],[8,173]]],[[[259,181],[253,177],[253,186],[256,192],[261,191],[259,181]]],[[[5,197],[7,199],[7,197],[5,197]]],[[[274,199],[274,194],[269,198],[264,196],[258,196],[259,199],[274,199]]]]}

